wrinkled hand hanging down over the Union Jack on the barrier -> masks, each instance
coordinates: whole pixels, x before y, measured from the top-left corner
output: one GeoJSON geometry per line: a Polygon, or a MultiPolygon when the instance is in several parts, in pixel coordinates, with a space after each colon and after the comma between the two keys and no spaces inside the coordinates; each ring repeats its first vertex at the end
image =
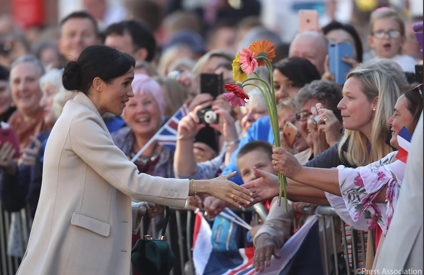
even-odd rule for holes
{"type": "Polygon", "coordinates": [[[257,236],[254,245],[255,255],[253,256],[252,268],[256,271],[262,272],[265,267],[269,267],[272,256],[277,259],[281,258],[272,237],[267,233],[257,236]]]}

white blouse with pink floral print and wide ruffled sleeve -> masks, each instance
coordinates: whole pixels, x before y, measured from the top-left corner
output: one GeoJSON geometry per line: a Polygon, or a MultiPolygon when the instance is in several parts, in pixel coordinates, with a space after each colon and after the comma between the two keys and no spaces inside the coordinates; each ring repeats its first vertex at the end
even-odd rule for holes
{"type": "Polygon", "coordinates": [[[326,197],[338,215],[351,227],[368,231],[379,225],[383,234],[386,234],[405,169],[405,164],[395,158],[396,154],[397,151],[391,152],[383,159],[364,167],[337,167],[342,197],[328,192],[326,197]],[[386,184],[386,203],[374,203],[379,191],[386,184]]]}

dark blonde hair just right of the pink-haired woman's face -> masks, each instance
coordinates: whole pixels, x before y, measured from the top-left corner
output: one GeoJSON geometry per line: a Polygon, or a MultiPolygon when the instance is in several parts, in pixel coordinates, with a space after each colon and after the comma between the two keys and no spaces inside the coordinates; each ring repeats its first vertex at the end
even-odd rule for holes
{"type": "Polygon", "coordinates": [[[173,116],[179,108],[188,100],[191,100],[188,91],[177,80],[168,77],[152,77],[162,87],[165,99],[164,116],[173,116]]]}

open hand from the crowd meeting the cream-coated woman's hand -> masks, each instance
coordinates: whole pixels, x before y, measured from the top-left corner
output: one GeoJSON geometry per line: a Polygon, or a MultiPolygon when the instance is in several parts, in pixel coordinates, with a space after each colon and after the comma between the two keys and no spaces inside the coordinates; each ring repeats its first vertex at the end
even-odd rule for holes
{"type": "Polygon", "coordinates": [[[253,167],[253,171],[258,179],[241,185],[253,193],[253,195],[251,195],[253,202],[249,205],[245,205],[245,207],[261,201],[267,201],[279,194],[280,181],[278,176],[259,170],[256,167],[253,167]]]}

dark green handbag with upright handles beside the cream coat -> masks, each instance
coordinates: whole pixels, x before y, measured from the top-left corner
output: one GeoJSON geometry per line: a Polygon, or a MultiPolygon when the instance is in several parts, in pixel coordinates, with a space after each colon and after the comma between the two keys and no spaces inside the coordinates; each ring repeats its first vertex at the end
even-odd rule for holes
{"type": "MultiPolygon", "coordinates": [[[[159,239],[154,239],[149,235],[139,239],[131,249],[131,263],[139,275],[168,275],[171,271],[175,256],[165,241],[165,231],[169,219],[169,207],[165,206],[165,222],[162,234],[159,239]]],[[[148,212],[143,219],[143,233],[147,234],[148,212]]]]}

